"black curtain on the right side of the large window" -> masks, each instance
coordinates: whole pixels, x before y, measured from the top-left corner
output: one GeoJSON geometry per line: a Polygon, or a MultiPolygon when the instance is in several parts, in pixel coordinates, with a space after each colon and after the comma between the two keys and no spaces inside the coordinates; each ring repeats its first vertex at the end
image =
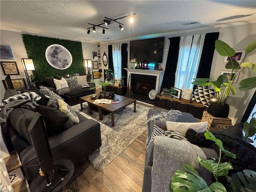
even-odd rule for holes
{"type": "MultiPolygon", "coordinates": [[[[196,78],[209,78],[211,67],[212,67],[212,58],[215,49],[215,40],[219,37],[219,32],[207,33],[204,38],[204,46],[202,50],[202,55],[200,58],[198,72],[196,78]]],[[[194,86],[194,90],[196,89],[194,86]]]]}

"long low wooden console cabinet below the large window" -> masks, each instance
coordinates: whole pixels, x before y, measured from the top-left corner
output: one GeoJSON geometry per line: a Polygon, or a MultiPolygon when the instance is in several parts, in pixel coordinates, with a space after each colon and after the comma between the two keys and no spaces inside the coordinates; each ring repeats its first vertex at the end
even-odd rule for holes
{"type": "Polygon", "coordinates": [[[201,119],[204,112],[204,106],[196,102],[170,98],[168,96],[157,95],[155,106],[165,109],[176,109],[182,112],[191,113],[195,118],[201,119]]]}

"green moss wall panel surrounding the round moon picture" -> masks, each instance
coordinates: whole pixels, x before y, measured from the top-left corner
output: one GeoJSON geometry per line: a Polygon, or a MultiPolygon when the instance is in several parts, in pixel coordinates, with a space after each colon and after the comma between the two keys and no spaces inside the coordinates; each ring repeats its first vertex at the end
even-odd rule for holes
{"type": "Polygon", "coordinates": [[[84,57],[82,51],[82,43],[78,41],[70,41],[42,36],[34,36],[22,34],[24,46],[26,48],[28,58],[33,59],[36,81],[39,85],[49,76],[84,73],[84,57]],[[48,64],[45,51],[48,46],[59,44],[64,46],[72,55],[72,64],[69,68],[59,70],[48,64]]]}

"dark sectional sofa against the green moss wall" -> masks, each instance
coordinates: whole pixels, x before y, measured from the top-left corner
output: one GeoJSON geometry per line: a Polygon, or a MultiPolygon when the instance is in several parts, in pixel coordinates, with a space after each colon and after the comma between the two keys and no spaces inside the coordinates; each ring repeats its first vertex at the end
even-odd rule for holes
{"type": "MultiPolygon", "coordinates": [[[[44,80],[42,86],[46,86],[47,88],[52,90],[54,93],[60,95],[62,98],[64,98],[64,100],[67,104],[69,104],[70,106],[73,106],[73,105],[80,103],[80,100],[79,100],[80,97],[95,93],[95,89],[90,90],[90,88],[95,87],[95,83],[88,83],[90,86],[89,88],[83,88],[79,84],[78,86],[74,86],[74,87],[70,86],[70,87],[64,88],[62,90],[56,90],[56,86],[54,84],[53,78],[61,79],[62,77],[63,78],[71,78],[73,76],[74,75],[70,75],[69,77],[66,75],[47,77],[44,80]]],[[[80,77],[81,76],[84,78],[84,82],[86,82],[86,76],[80,75],[80,77]]]]}

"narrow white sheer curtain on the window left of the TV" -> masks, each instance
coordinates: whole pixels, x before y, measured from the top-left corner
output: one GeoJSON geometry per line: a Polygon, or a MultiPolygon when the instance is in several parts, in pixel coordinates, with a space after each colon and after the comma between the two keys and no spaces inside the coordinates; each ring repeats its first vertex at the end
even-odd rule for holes
{"type": "Polygon", "coordinates": [[[122,77],[122,56],[121,56],[121,44],[112,45],[113,65],[115,78],[122,77]]]}

